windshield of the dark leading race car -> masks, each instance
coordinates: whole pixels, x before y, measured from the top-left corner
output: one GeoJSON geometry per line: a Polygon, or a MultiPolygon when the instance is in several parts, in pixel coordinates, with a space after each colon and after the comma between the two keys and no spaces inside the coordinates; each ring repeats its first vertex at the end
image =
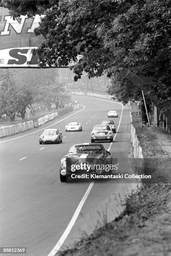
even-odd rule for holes
{"type": "Polygon", "coordinates": [[[104,149],[100,145],[75,145],[71,146],[68,154],[102,153],[104,149]]]}

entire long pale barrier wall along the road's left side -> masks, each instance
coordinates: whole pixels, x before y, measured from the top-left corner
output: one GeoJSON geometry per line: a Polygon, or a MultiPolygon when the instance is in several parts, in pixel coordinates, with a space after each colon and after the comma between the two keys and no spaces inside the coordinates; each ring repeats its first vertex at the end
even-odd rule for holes
{"type": "Polygon", "coordinates": [[[73,106],[67,106],[66,108],[61,108],[61,109],[57,110],[57,112],[55,112],[55,113],[51,113],[51,114],[45,115],[41,118],[38,118],[36,121],[31,120],[31,121],[24,122],[24,123],[18,123],[15,125],[8,125],[8,126],[0,127],[0,137],[9,136],[9,135],[12,135],[15,133],[29,130],[34,127],[38,127],[50,120],[53,120],[56,117],[60,117],[62,115],[70,113],[71,111],[73,111],[73,106]]]}

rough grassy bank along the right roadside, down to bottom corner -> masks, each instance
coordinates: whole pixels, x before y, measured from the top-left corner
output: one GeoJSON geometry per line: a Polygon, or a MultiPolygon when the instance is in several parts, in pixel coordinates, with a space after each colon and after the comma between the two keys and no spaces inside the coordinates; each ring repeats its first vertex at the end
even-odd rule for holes
{"type": "MultiPolygon", "coordinates": [[[[140,189],[125,197],[125,210],[111,223],[94,230],[61,256],[133,256],[170,255],[171,252],[171,164],[170,155],[161,147],[160,129],[140,128],[141,120],[133,117],[140,146],[145,158],[165,158],[165,165],[156,169],[159,184],[142,184],[140,189]]],[[[171,136],[170,136],[171,138],[171,136]]]]}

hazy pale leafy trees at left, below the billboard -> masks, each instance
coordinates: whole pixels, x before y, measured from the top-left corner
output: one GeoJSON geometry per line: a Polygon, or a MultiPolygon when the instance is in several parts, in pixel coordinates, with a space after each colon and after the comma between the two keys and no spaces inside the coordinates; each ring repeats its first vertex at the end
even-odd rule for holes
{"type": "MultiPolygon", "coordinates": [[[[15,120],[25,118],[26,108],[33,103],[45,102],[51,109],[51,101],[59,102],[64,85],[57,82],[55,69],[0,69],[0,110],[15,120]],[[55,97],[56,95],[56,97],[55,97]]],[[[57,104],[57,103],[56,103],[57,104]]]]}

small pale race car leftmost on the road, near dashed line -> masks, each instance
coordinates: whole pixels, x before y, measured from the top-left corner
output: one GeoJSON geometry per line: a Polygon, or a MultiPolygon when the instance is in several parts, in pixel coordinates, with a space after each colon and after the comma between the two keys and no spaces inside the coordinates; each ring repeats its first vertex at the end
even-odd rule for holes
{"type": "Polygon", "coordinates": [[[62,133],[57,129],[45,129],[39,136],[39,143],[56,143],[62,142],[62,133]]]}

